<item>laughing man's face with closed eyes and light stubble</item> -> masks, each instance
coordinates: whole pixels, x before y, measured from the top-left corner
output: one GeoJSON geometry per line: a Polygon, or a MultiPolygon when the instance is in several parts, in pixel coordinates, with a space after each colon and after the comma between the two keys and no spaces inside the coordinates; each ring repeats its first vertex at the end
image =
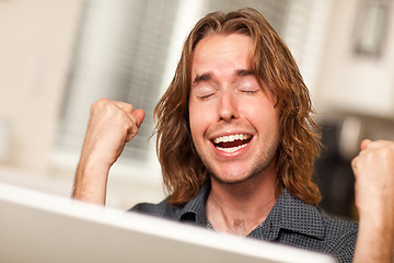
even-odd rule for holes
{"type": "Polygon", "coordinates": [[[241,34],[211,35],[193,57],[192,137],[205,165],[223,183],[276,171],[279,110],[251,71],[250,44],[241,34]]]}

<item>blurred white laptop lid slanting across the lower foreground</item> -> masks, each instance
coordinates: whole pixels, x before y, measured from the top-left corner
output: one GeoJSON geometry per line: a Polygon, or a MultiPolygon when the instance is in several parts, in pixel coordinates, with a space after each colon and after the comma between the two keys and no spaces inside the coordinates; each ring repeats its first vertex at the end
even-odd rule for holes
{"type": "Polygon", "coordinates": [[[0,183],[0,262],[335,262],[0,183]]]}

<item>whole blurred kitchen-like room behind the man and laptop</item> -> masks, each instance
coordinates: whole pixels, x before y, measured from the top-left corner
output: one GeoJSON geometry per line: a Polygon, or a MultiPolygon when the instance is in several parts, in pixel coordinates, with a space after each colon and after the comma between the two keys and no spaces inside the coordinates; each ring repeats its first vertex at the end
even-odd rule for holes
{"type": "Polygon", "coordinates": [[[198,19],[246,5],[278,31],[311,91],[322,205],[355,218],[350,160],[363,137],[394,139],[392,0],[0,0],[0,181],[70,196],[90,105],[108,98],[147,117],[111,171],[107,204],[161,201],[154,105],[198,19]]]}

